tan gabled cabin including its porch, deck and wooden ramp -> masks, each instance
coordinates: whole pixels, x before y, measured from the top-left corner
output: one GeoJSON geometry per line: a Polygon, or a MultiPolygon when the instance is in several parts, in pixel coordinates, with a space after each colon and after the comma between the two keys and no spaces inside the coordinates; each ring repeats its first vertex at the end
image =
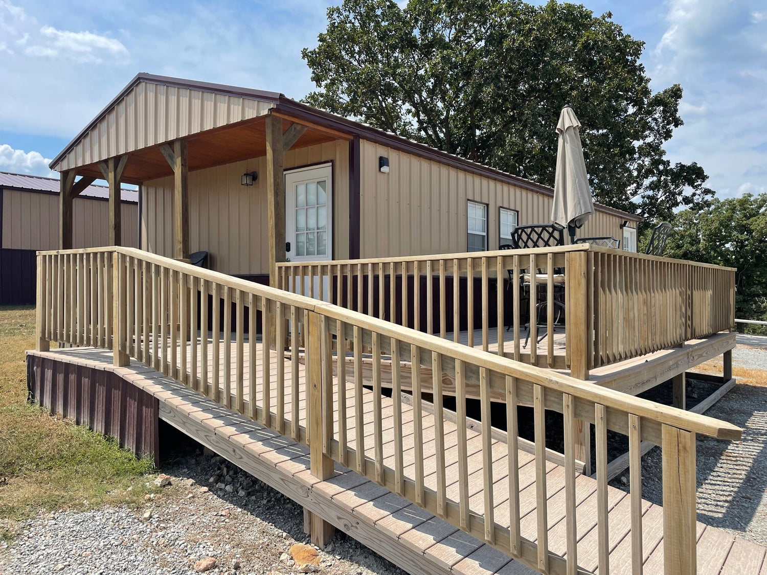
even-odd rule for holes
{"type": "Polygon", "coordinates": [[[51,412],[155,458],[166,422],[301,504],[315,544],[410,573],[758,573],[763,547],[696,521],[696,435],[742,433],[703,415],[735,383],[734,269],[637,253],[605,206],[578,235],[619,248],[505,249],[551,189],[262,90],[139,74],[51,168],[28,352],[51,412]],[[108,245],[74,248],[100,178],[108,245]],[[639,397],[660,385],[673,405],[639,397]]]}

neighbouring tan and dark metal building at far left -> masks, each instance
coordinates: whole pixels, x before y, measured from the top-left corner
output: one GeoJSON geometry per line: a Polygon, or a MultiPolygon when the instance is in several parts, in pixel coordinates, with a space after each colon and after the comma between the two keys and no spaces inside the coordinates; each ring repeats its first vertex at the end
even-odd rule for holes
{"type": "MultiPolygon", "coordinates": [[[[59,182],[0,172],[0,305],[35,304],[38,250],[58,248],[59,182]]],[[[138,247],[138,194],[122,190],[125,245],[138,247]]],[[[109,189],[91,184],[72,203],[73,246],[107,245],[109,189]]]]}

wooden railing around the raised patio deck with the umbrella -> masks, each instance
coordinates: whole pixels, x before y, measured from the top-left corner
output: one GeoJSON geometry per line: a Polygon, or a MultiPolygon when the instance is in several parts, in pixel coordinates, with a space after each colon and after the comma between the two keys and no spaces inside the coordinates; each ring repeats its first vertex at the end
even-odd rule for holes
{"type": "Polygon", "coordinates": [[[735,319],[734,269],[592,245],[277,268],[293,293],[584,379],[735,319]]]}

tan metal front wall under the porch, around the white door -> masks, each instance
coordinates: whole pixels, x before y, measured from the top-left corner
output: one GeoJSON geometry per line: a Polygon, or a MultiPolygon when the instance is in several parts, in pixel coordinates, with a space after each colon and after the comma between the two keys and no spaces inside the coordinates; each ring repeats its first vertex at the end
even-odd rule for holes
{"type": "MultiPolygon", "coordinates": [[[[337,140],[292,149],[285,169],[333,161],[334,258],[349,257],[349,144],[337,140]]],[[[265,156],[189,172],[189,250],[209,252],[212,269],[225,274],[268,273],[265,156]],[[258,172],[254,186],[240,184],[258,172]]],[[[173,178],[142,186],[142,246],[173,255],[173,178]]]]}

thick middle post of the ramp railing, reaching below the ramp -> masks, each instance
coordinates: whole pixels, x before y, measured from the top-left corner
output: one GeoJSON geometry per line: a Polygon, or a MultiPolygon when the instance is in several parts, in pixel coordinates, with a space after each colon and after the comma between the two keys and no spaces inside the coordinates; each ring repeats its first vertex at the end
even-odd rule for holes
{"type": "MultiPolygon", "coordinates": [[[[332,409],[328,410],[328,400],[333,404],[332,381],[328,378],[326,370],[322,369],[323,355],[330,350],[330,337],[327,330],[324,330],[322,318],[313,311],[309,312],[309,334],[308,334],[308,374],[309,374],[309,413],[308,413],[308,435],[309,435],[309,457],[311,475],[318,479],[330,479],[333,477],[333,460],[325,455],[324,444],[326,443],[328,429],[326,424],[330,423],[330,432],[332,433],[332,409]]],[[[334,527],[327,521],[324,521],[318,515],[311,511],[304,511],[304,528],[309,527],[311,542],[318,547],[324,547],[333,537],[334,527]],[[307,521],[308,520],[308,521],[307,521]]]]}

